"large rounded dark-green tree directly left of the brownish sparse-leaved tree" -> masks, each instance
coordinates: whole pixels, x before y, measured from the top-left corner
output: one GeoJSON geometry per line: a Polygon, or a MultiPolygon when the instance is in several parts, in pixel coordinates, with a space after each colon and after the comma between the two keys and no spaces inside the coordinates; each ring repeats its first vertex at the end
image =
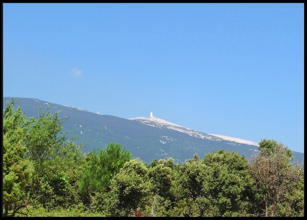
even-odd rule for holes
{"type": "Polygon", "coordinates": [[[202,192],[205,198],[210,198],[208,210],[218,210],[218,216],[249,216],[254,182],[248,171],[248,160],[238,152],[221,149],[207,153],[204,164],[208,175],[202,192]]]}

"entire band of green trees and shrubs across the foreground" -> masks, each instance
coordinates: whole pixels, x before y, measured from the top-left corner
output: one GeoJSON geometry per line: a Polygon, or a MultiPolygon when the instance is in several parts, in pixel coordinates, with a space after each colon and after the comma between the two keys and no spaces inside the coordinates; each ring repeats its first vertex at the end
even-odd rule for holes
{"type": "Polygon", "coordinates": [[[262,139],[249,162],[238,152],[144,163],[120,144],[84,154],[47,107],[3,113],[3,216],[304,216],[304,168],[262,139]]]}

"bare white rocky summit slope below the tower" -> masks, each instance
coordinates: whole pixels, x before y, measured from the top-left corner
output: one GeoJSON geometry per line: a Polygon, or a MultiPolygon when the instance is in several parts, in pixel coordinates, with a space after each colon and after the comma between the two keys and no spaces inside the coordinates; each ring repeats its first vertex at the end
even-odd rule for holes
{"type": "Polygon", "coordinates": [[[193,137],[196,137],[196,138],[212,139],[212,140],[215,140],[215,141],[227,140],[227,141],[233,141],[233,142],[236,142],[236,143],[258,146],[258,143],[253,142],[253,141],[243,140],[243,139],[239,139],[239,138],[232,138],[232,137],[228,137],[228,136],[224,136],[224,135],[205,134],[205,133],[202,133],[200,131],[193,130],[193,129],[190,129],[190,128],[187,128],[187,127],[183,127],[183,126],[180,126],[180,125],[177,125],[177,124],[173,124],[173,123],[170,123],[168,121],[165,121],[163,119],[153,117],[153,116],[151,116],[149,118],[137,117],[137,118],[131,118],[129,120],[136,120],[136,121],[139,121],[143,124],[153,126],[153,127],[160,127],[160,128],[166,127],[168,129],[173,129],[173,130],[180,131],[182,133],[186,133],[186,134],[193,136],[193,137]]]}

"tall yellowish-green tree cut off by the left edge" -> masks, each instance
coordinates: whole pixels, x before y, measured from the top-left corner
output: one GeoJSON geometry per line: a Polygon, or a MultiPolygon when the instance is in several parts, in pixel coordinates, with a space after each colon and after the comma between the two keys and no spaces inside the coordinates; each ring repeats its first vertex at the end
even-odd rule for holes
{"type": "Polygon", "coordinates": [[[26,116],[20,107],[7,102],[3,113],[3,206],[4,216],[15,216],[27,205],[26,187],[33,174],[33,164],[25,157],[26,116]]]}

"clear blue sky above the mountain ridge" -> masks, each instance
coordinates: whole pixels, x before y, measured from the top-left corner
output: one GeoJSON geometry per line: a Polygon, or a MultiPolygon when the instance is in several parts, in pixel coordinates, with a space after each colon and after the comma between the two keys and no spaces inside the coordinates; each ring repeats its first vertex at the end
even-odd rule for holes
{"type": "Polygon", "coordinates": [[[3,4],[3,96],[304,152],[304,4],[3,4]]]}

